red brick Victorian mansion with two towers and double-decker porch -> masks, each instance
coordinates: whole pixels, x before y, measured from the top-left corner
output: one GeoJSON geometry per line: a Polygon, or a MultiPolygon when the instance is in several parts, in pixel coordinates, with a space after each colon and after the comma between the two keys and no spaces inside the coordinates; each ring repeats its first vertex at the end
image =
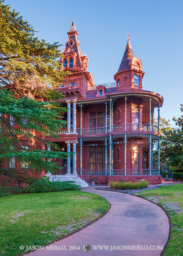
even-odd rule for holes
{"type": "MultiPolygon", "coordinates": [[[[70,71],[64,84],[55,88],[65,95],[60,100],[69,111],[63,115],[66,129],[61,129],[61,150],[76,152],[73,159],[58,159],[59,174],[79,175],[88,183],[105,184],[110,180],[141,180],[161,183],[159,175],[159,108],[163,97],[143,90],[143,65],[128,43],[116,82],[96,85],[87,71],[88,58],[82,54],[74,22],[60,60],[70,71]],[[158,108],[158,125],[154,110],[158,108]],[[152,143],[157,140],[157,169],[152,168],[152,143]]],[[[65,128],[65,127],[62,127],[65,128]]],[[[53,141],[53,140],[52,140],[53,141]]]]}

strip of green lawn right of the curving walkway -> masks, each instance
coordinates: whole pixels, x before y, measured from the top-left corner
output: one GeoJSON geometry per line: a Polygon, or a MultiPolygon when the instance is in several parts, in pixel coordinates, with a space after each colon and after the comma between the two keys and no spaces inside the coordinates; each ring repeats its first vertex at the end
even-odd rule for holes
{"type": "MultiPolygon", "coordinates": [[[[161,186],[161,185],[160,185],[161,186]]],[[[162,256],[183,256],[183,184],[136,193],[162,206],[171,223],[170,238],[162,256]]]]}

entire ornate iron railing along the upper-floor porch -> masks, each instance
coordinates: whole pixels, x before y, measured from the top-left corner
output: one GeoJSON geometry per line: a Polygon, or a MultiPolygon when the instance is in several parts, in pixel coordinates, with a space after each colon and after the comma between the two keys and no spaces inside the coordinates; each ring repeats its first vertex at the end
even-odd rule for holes
{"type": "MultiPolygon", "coordinates": [[[[96,128],[77,128],[76,132],[78,135],[91,135],[91,134],[104,134],[110,131],[109,126],[107,127],[96,127],[96,128]],[[106,129],[107,128],[107,129],[106,129]]],[[[159,133],[159,128],[156,125],[152,124],[113,124],[112,125],[112,132],[134,132],[134,131],[141,131],[141,132],[157,132],[159,133]]]]}

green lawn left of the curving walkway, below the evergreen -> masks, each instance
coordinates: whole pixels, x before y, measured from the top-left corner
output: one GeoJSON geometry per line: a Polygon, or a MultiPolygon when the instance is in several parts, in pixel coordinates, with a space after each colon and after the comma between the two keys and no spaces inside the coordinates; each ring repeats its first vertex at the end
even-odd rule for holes
{"type": "Polygon", "coordinates": [[[23,255],[21,245],[51,244],[91,224],[109,207],[105,198],[81,191],[1,197],[0,255],[23,255]]]}

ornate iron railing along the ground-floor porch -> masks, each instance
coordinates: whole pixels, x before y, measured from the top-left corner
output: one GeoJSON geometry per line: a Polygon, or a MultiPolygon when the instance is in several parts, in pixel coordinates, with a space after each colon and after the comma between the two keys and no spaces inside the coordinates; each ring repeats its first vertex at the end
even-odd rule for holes
{"type": "MultiPolygon", "coordinates": [[[[77,174],[80,175],[80,169],[77,169],[77,174]]],[[[103,170],[84,170],[82,169],[82,175],[105,175],[105,169],[103,170]]],[[[107,169],[107,175],[109,175],[109,169],[107,169]]],[[[113,170],[111,169],[111,175],[125,175],[125,169],[113,170]]],[[[150,169],[127,169],[126,175],[141,175],[149,176],[150,169]]],[[[158,169],[151,169],[151,175],[159,175],[158,169]]]]}

